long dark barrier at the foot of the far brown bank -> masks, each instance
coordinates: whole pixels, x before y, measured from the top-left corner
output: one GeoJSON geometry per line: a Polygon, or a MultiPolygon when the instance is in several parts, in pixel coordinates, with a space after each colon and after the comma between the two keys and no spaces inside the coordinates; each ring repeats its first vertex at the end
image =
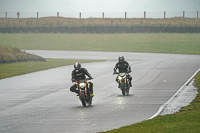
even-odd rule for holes
{"type": "Polygon", "coordinates": [[[82,26],[82,27],[0,27],[0,33],[200,33],[200,27],[82,26]]]}

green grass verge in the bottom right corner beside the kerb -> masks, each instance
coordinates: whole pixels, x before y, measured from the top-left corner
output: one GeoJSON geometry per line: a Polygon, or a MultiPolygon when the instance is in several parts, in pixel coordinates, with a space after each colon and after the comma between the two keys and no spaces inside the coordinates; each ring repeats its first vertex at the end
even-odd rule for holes
{"type": "MultiPolygon", "coordinates": [[[[200,91],[200,72],[195,76],[200,91]]],[[[130,126],[107,131],[106,133],[199,133],[200,131],[200,93],[190,103],[175,114],[158,116],[130,126]]]]}

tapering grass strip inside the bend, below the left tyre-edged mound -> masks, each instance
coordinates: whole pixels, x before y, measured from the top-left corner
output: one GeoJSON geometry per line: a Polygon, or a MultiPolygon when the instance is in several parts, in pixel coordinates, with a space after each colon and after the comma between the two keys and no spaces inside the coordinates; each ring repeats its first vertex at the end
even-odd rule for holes
{"type": "MultiPolygon", "coordinates": [[[[46,62],[20,62],[0,65],[0,79],[31,73],[35,71],[72,65],[75,62],[86,63],[97,60],[73,60],[73,59],[46,59],[46,62]]],[[[99,61],[99,60],[98,60],[99,61]]],[[[73,68],[72,68],[73,69],[73,68]]]]}

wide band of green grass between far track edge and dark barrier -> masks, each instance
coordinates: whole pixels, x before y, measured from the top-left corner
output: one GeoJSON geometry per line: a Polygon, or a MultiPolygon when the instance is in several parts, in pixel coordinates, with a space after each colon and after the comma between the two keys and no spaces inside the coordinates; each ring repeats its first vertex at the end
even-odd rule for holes
{"type": "Polygon", "coordinates": [[[197,33],[0,34],[0,44],[30,50],[81,50],[200,55],[197,33]]]}

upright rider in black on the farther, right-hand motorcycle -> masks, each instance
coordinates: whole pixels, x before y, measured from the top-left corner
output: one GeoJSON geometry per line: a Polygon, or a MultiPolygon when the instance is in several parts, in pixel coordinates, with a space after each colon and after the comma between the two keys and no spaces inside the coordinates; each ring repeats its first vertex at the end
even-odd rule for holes
{"type": "MultiPolygon", "coordinates": [[[[114,73],[116,73],[117,69],[118,69],[118,72],[119,73],[131,73],[131,66],[129,66],[129,63],[127,61],[124,60],[124,56],[120,56],[118,58],[118,61],[115,65],[115,68],[114,68],[114,73]]],[[[128,76],[128,79],[129,79],[129,86],[132,87],[132,77],[131,75],[127,75],[128,76]]],[[[118,82],[118,77],[116,78],[116,81],[118,82]]]]}

